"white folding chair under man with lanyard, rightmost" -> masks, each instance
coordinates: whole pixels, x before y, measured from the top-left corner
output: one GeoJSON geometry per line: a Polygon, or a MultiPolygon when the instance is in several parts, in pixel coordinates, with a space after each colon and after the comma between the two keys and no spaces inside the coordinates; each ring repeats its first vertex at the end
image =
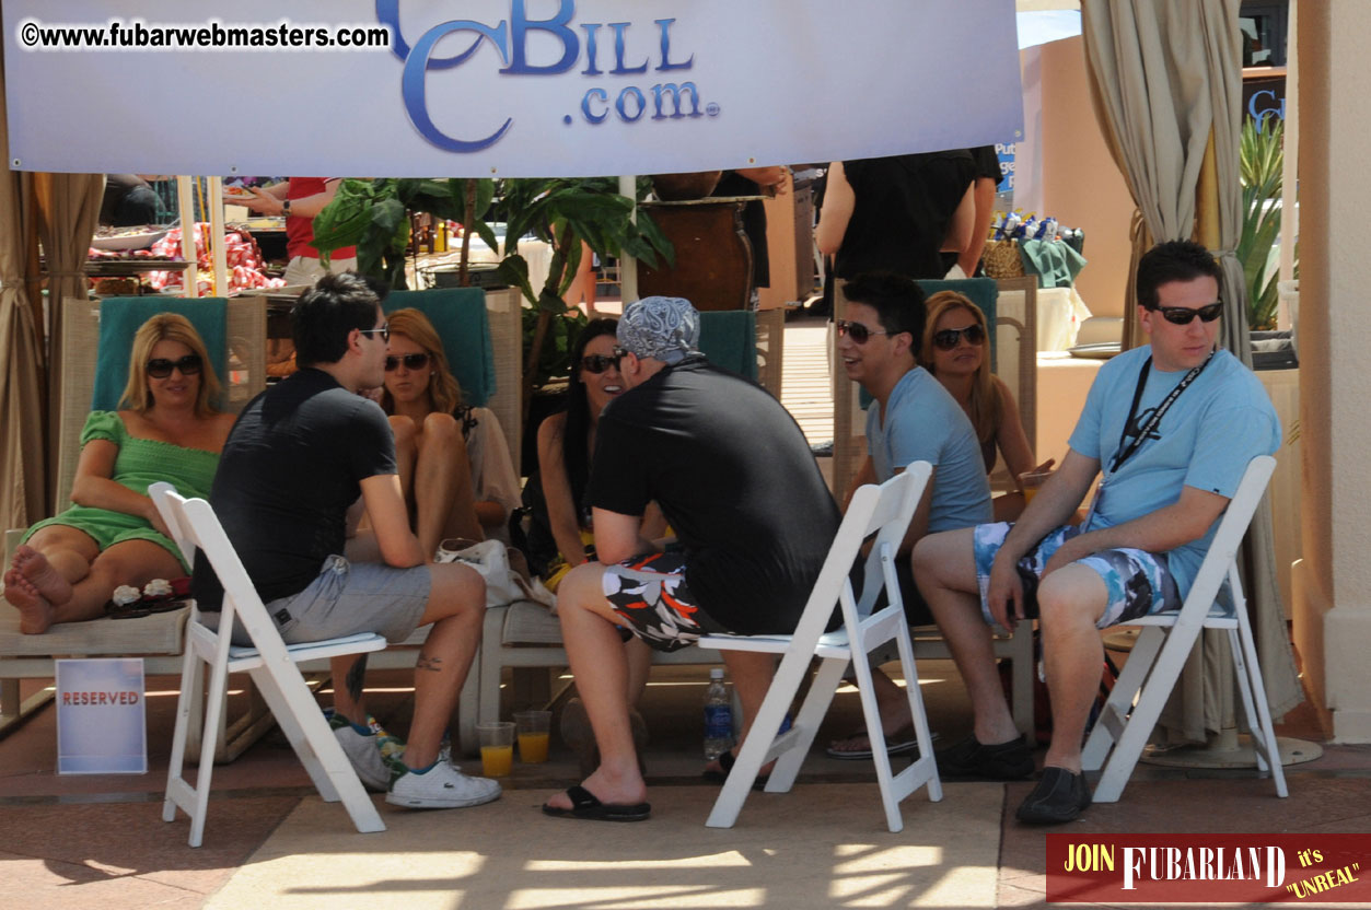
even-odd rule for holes
{"type": "Polygon", "coordinates": [[[1228,633],[1233,669],[1242,691],[1242,709],[1257,757],[1257,773],[1270,772],[1275,778],[1276,795],[1286,795],[1281,750],[1271,722],[1271,707],[1261,681],[1261,666],[1257,663],[1237,562],[1238,545],[1275,467],[1276,459],[1270,455],[1259,455],[1248,463],[1238,492],[1228,502],[1180,610],[1128,622],[1142,626],[1142,630],[1080,757],[1086,770],[1104,767],[1100,783],[1095,784],[1094,802],[1119,800],[1201,629],[1223,629],[1228,633]],[[1228,580],[1231,608],[1217,602],[1224,576],[1228,580]]]}

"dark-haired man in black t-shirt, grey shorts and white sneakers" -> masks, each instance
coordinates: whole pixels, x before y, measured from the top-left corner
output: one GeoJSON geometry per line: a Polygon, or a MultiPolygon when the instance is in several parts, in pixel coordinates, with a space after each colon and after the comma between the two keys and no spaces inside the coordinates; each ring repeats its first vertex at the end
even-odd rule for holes
{"type": "MultiPolygon", "coordinates": [[[[223,445],[211,504],[288,644],[359,632],[402,641],[433,624],[414,672],[403,757],[362,706],[365,655],[332,661],[333,733],[362,783],[388,791],[388,803],[487,803],[500,795],[498,783],[468,777],[440,758],[481,639],[485,582],[463,565],[426,565],[432,554],[410,530],[389,423],[356,395],[385,376],[389,330],[380,297],[355,274],[325,275],[292,319],[302,369],[243,410],[223,445]],[[362,506],[373,530],[355,533],[362,506]]],[[[217,625],[223,589],[203,552],[193,578],[196,602],[217,625]]],[[[233,639],[251,644],[237,625],[233,639]]]]}

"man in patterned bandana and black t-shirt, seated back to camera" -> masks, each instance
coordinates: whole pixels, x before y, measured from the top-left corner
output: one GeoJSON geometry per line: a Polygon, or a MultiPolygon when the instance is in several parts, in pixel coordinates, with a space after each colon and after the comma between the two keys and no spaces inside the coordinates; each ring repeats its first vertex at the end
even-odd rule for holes
{"type": "MultiPolygon", "coordinates": [[[[794,418],[761,386],[695,351],[699,314],[646,297],[618,323],[629,386],[600,415],[587,497],[599,562],[558,587],[558,614],[600,766],[543,809],[647,818],[633,754],[617,626],[672,651],[713,632],[794,632],[839,514],[794,418]],[[683,545],[664,554],[638,529],[657,502],[683,545]]],[[[727,651],[743,736],[771,684],[769,655],[727,651]]],[[[727,773],[733,752],[709,769],[727,773]]]]}

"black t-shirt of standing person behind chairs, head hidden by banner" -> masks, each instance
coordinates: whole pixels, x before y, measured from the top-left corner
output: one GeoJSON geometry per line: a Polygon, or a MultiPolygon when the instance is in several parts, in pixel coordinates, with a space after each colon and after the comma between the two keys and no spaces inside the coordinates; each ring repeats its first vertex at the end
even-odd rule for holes
{"type": "Polygon", "coordinates": [[[834,260],[835,274],[895,271],[942,278],[947,270],[939,251],[973,171],[967,149],[843,162],[856,206],[834,260]]]}

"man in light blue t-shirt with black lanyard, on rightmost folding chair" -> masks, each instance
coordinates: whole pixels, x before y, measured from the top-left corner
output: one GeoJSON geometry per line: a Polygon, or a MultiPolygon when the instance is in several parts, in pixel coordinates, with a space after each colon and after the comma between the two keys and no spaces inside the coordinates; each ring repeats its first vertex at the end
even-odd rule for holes
{"type": "Polygon", "coordinates": [[[1053,730],[1020,821],[1071,821],[1090,804],[1080,741],[1100,687],[1097,628],[1179,608],[1248,462],[1281,447],[1260,381],[1216,349],[1222,311],[1219,265],[1204,247],[1174,241],[1149,251],[1138,263],[1138,317],[1152,344],[1100,370],[1065,460],[1019,522],[934,534],[914,551],[975,711],[973,735],[938,754],[943,774],[1032,773],[999,688],[988,622],[1013,628],[1026,618],[1024,578],[1041,580],[1053,730]],[[1101,473],[1090,518],[1067,525],[1101,473]]]}

